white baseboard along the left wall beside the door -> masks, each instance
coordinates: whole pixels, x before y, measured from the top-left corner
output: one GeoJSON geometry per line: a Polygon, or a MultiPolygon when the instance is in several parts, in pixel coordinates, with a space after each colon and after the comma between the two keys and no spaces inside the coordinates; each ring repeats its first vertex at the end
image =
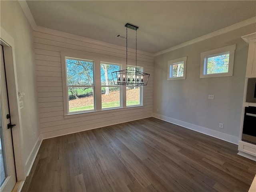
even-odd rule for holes
{"type": "Polygon", "coordinates": [[[42,136],[39,135],[39,137],[36,141],[36,144],[34,145],[32,151],[30,152],[30,155],[28,156],[28,159],[27,159],[26,164],[25,164],[25,174],[26,174],[26,176],[28,176],[29,173],[30,173],[30,170],[31,170],[31,168],[34,164],[34,161],[36,159],[36,155],[38,153],[38,150],[39,150],[41,144],[42,144],[42,136]]]}

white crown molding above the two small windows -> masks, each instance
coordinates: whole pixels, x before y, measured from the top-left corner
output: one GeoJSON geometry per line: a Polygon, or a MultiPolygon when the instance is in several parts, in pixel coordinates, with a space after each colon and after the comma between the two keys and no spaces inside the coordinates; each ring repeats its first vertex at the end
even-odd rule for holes
{"type": "Polygon", "coordinates": [[[252,17],[250,19],[247,19],[247,20],[241,21],[239,23],[230,25],[228,27],[225,27],[225,28],[222,28],[220,30],[214,31],[212,33],[206,34],[204,36],[200,36],[198,38],[189,40],[189,41],[184,42],[182,44],[178,44],[178,45],[173,46],[171,48],[168,48],[166,50],[162,50],[160,52],[156,52],[156,53],[153,54],[153,56],[155,57],[155,56],[158,56],[158,55],[161,55],[161,54],[164,54],[164,53],[167,53],[167,52],[170,52],[170,51],[173,51],[173,50],[176,50],[176,49],[179,49],[179,48],[182,48],[182,47],[185,47],[185,46],[188,46],[188,45],[191,45],[191,44],[194,44],[194,43],[206,40],[206,39],[209,39],[209,38],[212,38],[212,37],[215,37],[215,36],[218,36],[218,35],[221,35],[221,34],[224,34],[224,33],[227,33],[227,32],[230,32],[230,31],[233,31],[233,30],[236,30],[236,29],[239,29],[239,28],[242,28],[244,26],[248,26],[250,24],[254,24],[254,23],[256,23],[256,17],[252,17]]]}

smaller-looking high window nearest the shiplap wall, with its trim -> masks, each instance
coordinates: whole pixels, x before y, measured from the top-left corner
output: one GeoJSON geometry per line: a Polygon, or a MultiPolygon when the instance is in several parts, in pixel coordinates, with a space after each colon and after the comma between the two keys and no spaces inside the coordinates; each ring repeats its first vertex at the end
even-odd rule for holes
{"type": "Polygon", "coordinates": [[[167,80],[186,79],[187,57],[182,57],[168,61],[167,80]]]}

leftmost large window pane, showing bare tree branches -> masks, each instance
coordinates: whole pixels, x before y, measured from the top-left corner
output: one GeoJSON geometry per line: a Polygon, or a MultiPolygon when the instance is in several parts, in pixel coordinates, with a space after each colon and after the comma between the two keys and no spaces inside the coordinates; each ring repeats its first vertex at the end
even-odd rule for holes
{"type": "Polygon", "coordinates": [[[94,61],[65,58],[68,112],[95,110],[94,61]]]}

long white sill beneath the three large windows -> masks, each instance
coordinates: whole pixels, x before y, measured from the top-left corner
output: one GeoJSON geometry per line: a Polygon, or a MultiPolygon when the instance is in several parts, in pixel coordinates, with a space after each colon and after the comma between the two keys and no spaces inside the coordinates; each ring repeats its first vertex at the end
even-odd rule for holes
{"type": "Polygon", "coordinates": [[[84,117],[84,116],[94,116],[94,115],[99,115],[99,114],[107,114],[107,113],[113,113],[113,112],[120,112],[120,111],[125,111],[125,110],[133,110],[135,108],[144,108],[144,105],[134,105],[134,106],[127,106],[125,108],[110,108],[110,109],[103,109],[100,111],[88,111],[88,112],[78,112],[78,113],[72,113],[72,114],[66,114],[64,115],[64,119],[69,119],[69,118],[79,118],[79,117],[84,117]]]}

